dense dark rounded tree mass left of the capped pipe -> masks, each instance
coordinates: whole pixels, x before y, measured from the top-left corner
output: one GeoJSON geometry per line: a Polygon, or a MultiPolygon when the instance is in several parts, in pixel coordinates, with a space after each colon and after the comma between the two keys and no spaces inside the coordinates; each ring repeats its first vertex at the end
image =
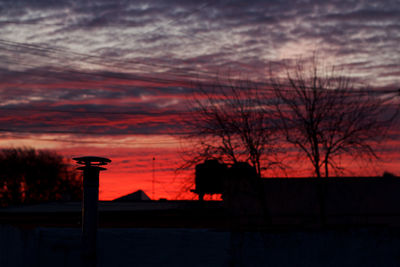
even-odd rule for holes
{"type": "Polygon", "coordinates": [[[80,200],[81,176],[61,155],[44,150],[0,150],[2,205],[80,200]]]}

